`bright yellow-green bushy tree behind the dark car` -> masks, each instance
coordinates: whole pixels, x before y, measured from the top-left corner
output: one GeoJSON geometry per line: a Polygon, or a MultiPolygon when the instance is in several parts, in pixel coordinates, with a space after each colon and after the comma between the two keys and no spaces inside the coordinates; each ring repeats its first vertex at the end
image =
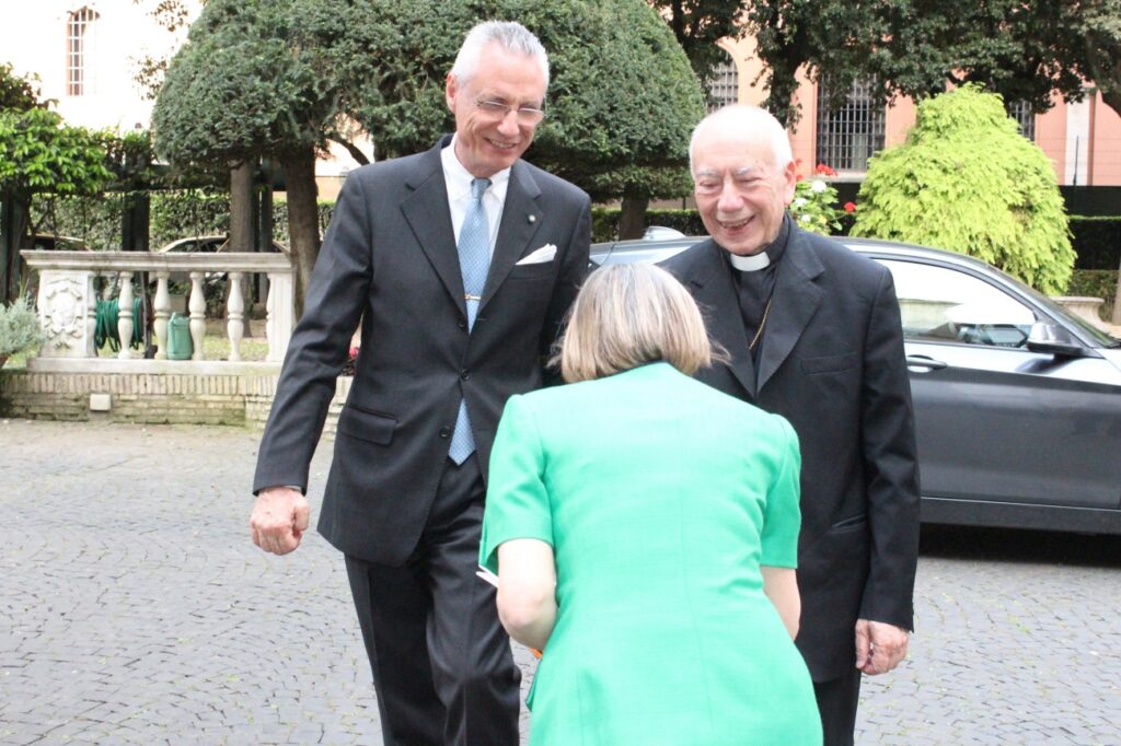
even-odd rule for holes
{"type": "Polygon", "coordinates": [[[907,141],[872,158],[852,235],[958,251],[1053,295],[1075,260],[1050,161],[972,84],[924,101],[907,141]]]}

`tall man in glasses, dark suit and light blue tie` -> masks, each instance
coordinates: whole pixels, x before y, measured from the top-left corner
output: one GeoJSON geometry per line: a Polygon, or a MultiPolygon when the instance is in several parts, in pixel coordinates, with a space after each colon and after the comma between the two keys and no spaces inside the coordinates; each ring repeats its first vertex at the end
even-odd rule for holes
{"type": "Polygon", "coordinates": [[[519,671],[475,570],[499,416],[541,385],[587,268],[587,195],[520,160],[547,84],[532,34],[482,24],[447,76],[454,138],[346,179],[261,441],[253,540],[285,553],[361,320],[318,529],[345,554],[386,744],[519,738],[519,671]]]}

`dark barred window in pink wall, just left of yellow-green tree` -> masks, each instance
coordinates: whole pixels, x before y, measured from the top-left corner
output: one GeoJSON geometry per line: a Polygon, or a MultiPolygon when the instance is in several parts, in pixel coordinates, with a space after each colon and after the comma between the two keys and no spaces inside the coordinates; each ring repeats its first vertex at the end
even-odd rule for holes
{"type": "Polygon", "coordinates": [[[872,102],[874,78],[858,78],[843,104],[831,110],[828,82],[817,86],[818,164],[836,170],[868,170],[868,159],[883,149],[883,110],[872,102]]]}

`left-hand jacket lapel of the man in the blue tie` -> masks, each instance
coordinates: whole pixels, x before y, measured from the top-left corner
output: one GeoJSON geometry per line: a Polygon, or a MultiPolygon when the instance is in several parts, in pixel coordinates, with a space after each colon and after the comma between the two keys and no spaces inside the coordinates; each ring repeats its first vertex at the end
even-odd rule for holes
{"type": "Polygon", "coordinates": [[[447,184],[439,160],[442,144],[443,141],[424,153],[420,167],[407,179],[413,192],[401,201],[401,212],[444,288],[466,316],[463,274],[455,250],[455,230],[447,212],[447,184]]]}

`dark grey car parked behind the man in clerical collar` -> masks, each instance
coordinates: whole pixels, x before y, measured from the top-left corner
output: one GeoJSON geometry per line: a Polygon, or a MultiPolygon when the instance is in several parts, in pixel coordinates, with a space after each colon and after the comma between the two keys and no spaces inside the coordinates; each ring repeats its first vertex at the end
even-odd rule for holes
{"type": "MultiPolygon", "coordinates": [[[[700,240],[595,244],[592,262],[700,240]]],[[[923,521],[1121,534],[1121,341],[975,259],[835,240],[895,278],[923,521]]]]}

